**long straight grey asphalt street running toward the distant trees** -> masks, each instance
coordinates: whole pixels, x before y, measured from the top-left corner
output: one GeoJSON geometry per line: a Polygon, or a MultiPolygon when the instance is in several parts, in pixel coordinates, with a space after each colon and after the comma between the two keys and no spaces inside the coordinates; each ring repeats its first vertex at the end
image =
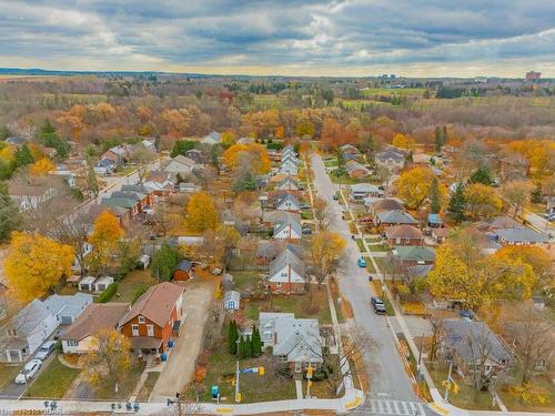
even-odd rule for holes
{"type": "Polygon", "coordinates": [[[370,298],[374,293],[367,280],[369,272],[356,265],[361,253],[356,243],[351,240],[346,222],[341,220],[340,204],[333,201],[337,185],[331,182],[322,158],[317,154],[312,155],[312,169],[317,195],[329,202],[333,212],[334,221],[330,229],[339,232],[347,242],[346,265],[339,276],[341,292],[353,308],[356,329],[369,333],[376,344],[373,351],[369,351],[364,356],[370,375],[370,398],[416,402],[418,399],[386,321],[376,315],[371,306],[370,298]]]}

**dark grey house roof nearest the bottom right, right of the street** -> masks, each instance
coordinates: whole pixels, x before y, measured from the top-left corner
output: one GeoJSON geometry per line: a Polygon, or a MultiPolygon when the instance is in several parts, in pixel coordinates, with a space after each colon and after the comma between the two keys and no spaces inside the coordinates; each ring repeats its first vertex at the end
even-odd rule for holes
{"type": "Polygon", "coordinates": [[[454,349],[467,363],[475,362],[484,355],[496,363],[512,359],[508,349],[483,322],[445,319],[443,326],[444,347],[454,349]]]}

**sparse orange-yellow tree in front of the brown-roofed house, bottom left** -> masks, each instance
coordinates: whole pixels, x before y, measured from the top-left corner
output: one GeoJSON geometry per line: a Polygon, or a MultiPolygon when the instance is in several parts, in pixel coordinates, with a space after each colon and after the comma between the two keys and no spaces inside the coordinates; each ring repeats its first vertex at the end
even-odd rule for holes
{"type": "Polygon", "coordinates": [[[93,347],[84,356],[89,382],[95,387],[115,386],[131,366],[130,339],[115,329],[101,329],[93,336],[93,347]]]}

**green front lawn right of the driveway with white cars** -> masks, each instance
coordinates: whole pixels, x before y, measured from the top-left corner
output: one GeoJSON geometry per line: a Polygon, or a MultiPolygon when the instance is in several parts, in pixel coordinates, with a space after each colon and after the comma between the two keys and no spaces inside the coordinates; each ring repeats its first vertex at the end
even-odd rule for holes
{"type": "Polygon", "coordinates": [[[37,398],[63,398],[63,395],[71,386],[79,369],[64,366],[58,357],[54,357],[48,367],[42,371],[39,377],[31,384],[27,396],[37,398]]]}

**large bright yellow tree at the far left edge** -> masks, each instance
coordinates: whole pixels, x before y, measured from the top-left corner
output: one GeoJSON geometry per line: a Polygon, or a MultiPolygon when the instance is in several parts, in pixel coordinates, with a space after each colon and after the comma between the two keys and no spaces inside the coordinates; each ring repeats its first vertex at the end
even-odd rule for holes
{"type": "Polygon", "coordinates": [[[22,302],[42,296],[71,273],[73,255],[69,245],[40,234],[14,232],[4,265],[10,291],[22,302]]]}

